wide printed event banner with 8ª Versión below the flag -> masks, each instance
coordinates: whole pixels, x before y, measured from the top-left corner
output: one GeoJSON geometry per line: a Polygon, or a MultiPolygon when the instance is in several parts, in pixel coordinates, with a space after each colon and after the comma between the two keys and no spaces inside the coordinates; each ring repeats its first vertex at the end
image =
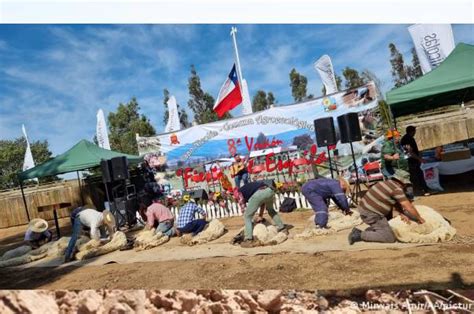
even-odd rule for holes
{"type": "MultiPolygon", "coordinates": [[[[165,155],[169,166],[197,164],[216,158],[249,155],[272,147],[305,149],[316,143],[314,120],[358,112],[363,132],[374,132],[378,95],[374,83],[300,104],[274,107],[235,119],[193,126],[154,137],[137,135],[140,155],[165,155]]],[[[375,138],[375,134],[373,134],[375,138]]],[[[365,142],[365,144],[368,144],[365,142]]],[[[340,155],[349,150],[338,144],[340,155]]],[[[347,146],[347,145],[346,145],[347,146]]],[[[355,143],[362,152],[363,144],[355,143]]]]}

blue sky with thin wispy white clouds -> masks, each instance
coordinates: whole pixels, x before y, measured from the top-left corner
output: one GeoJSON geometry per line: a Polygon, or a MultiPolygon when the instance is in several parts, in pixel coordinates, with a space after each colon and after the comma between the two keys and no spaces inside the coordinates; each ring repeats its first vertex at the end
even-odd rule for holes
{"type": "MultiPolygon", "coordinates": [[[[408,25],[237,25],[244,77],[251,97],[272,91],[292,103],[288,73],[308,78],[323,54],[340,75],[345,66],[369,69],[392,88],[388,44],[411,61],[408,25]]],[[[135,96],[157,132],[164,129],[163,89],[187,108],[194,64],[215,98],[234,62],[231,25],[0,25],[0,138],[47,139],[53,154],[92,139],[96,113],[114,111],[135,96]]],[[[453,25],[456,43],[474,43],[473,25],[453,25]]],[[[239,114],[236,110],[234,115],[239,114]]],[[[191,115],[190,110],[188,110],[191,115]]]]}

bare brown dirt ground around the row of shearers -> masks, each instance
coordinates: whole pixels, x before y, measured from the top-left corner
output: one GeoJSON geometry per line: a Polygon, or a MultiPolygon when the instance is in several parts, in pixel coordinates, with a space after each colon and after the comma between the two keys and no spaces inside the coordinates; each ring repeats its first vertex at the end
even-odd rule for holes
{"type": "MultiPolygon", "coordinates": [[[[420,197],[448,218],[465,243],[404,249],[281,253],[233,258],[107,264],[103,266],[0,269],[1,289],[446,289],[474,287],[474,192],[420,197]],[[467,242],[467,243],[466,243],[467,242]]],[[[311,211],[283,214],[294,230],[311,211]]],[[[241,217],[223,220],[230,232],[241,217]]],[[[64,227],[65,230],[67,227],[64,227]]],[[[295,232],[290,231],[290,234],[295,232]]],[[[0,236],[2,234],[0,233],[0,236]]],[[[10,240],[14,239],[9,235],[10,240]]],[[[18,238],[18,236],[17,236],[18,238]]],[[[2,236],[0,245],[5,247],[2,236]]],[[[171,244],[171,243],[169,243],[171,244]]],[[[169,245],[165,244],[165,245],[169,245]]],[[[199,247],[195,247],[199,249],[199,247]]],[[[354,291],[354,290],[352,290],[354,291]]]]}

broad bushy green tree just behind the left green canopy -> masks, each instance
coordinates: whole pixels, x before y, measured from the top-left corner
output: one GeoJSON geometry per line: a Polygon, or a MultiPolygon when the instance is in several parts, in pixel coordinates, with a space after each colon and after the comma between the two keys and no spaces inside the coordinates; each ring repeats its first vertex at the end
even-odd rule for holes
{"type": "Polygon", "coordinates": [[[155,128],[145,115],[140,115],[140,106],[135,97],[127,104],[120,103],[117,112],[110,112],[109,140],[112,150],[126,154],[138,154],[138,147],[135,135],[153,136],[156,135],[155,128]]]}

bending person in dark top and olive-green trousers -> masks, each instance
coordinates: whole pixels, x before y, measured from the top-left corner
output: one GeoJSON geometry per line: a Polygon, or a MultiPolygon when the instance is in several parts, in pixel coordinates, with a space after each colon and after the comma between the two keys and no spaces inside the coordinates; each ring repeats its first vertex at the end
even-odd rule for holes
{"type": "Polygon", "coordinates": [[[245,184],[240,189],[235,190],[234,198],[238,201],[240,208],[244,213],[245,231],[244,241],[241,246],[244,248],[254,247],[253,241],[253,223],[252,219],[260,208],[260,214],[266,208],[268,214],[277,226],[278,232],[286,230],[283,221],[273,208],[273,198],[275,191],[272,184],[266,181],[254,181],[245,184]]]}

